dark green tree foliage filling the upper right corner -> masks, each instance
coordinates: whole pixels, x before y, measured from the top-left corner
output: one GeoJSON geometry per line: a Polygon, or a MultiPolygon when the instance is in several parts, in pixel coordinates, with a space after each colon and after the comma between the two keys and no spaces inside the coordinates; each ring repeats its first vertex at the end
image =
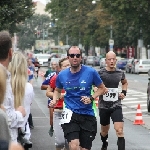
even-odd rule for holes
{"type": "Polygon", "coordinates": [[[149,0],[101,0],[101,2],[115,18],[113,26],[117,44],[137,45],[139,38],[145,41],[145,45],[149,43],[149,0]]]}

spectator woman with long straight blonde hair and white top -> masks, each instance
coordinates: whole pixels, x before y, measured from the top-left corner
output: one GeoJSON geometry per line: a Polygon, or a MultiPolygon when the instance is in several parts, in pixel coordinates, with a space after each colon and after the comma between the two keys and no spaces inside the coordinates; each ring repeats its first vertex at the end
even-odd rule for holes
{"type": "Polygon", "coordinates": [[[9,71],[11,73],[11,86],[14,94],[14,107],[23,105],[26,111],[26,116],[24,117],[24,122],[22,127],[26,129],[25,138],[29,141],[30,139],[30,129],[27,123],[30,106],[34,98],[33,86],[27,82],[27,60],[21,52],[14,52],[12,56],[12,61],[9,64],[9,71]]]}

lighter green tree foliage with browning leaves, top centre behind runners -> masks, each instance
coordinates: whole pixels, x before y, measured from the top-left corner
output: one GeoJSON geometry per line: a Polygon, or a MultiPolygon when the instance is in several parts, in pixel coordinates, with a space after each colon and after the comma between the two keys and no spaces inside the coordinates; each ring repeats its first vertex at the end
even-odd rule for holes
{"type": "Polygon", "coordinates": [[[101,9],[100,4],[92,5],[92,1],[87,0],[52,0],[46,6],[46,10],[52,14],[54,23],[58,27],[61,40],[66,44],[64,37],[68,35],[70,45],[82,43],[98,46],[100,43],[103,45],[108,43],[108,37],[103,38],[102,33],[105,28],[108,28],[110,21],[106,22],[106,20],[110,15],[101,9]]]}

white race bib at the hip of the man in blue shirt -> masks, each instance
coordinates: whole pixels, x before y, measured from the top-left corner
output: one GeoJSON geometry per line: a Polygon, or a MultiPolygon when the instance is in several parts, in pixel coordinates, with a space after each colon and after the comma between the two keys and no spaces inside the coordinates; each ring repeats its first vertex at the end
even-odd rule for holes
{"type": "Polygon", "coordinates": [[[64,123],[69,123],[71,120],[73,112],[70,109],[65,108],[61,114],[60,125],[64,123]]]}

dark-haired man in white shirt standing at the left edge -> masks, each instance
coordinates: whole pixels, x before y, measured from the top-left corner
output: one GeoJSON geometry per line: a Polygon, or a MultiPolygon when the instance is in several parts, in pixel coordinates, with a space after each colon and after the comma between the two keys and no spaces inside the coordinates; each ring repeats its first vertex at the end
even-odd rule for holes
{"type": "MultiPolygon", "coordinates": [[[[7,69],[9,62],[12,59],[12,41],[7,31],[0,32],[0,63],[7,69]]],[[[7,71],[6,94],[4,98],[4,108],[9,120],[11,131],[11,140],[17,142],[18,127],[24,122],[25,109],[23,106],[14,108],[14,95],[11,88],[11,76],[7,71]]]]}

